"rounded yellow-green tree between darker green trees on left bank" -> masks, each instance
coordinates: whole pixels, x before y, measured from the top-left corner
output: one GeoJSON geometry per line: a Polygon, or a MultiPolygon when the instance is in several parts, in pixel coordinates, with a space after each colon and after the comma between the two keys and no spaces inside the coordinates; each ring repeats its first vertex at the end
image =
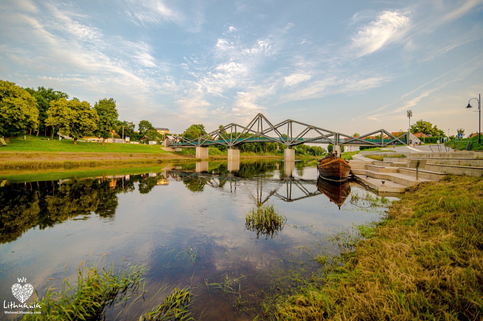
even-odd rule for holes
{"type": "Polygon", "coordinates": [[[74,145],[77,145],[79,138],[97,129],[99,116],[87,101],[60,98],[50,102],[45,123],[58,126],[59,133],[72,137],[74,145]]]}

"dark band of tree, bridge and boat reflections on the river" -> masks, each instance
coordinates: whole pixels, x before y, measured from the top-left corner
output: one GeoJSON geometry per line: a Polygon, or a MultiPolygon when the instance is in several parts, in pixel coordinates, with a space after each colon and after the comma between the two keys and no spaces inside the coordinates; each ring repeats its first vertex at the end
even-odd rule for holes
{"type": "Polygon", "coordinates": [[[244,187],[241,181],[249,177],[254,183],[245,190],[255,204],[266,203],[272,196],[284,202],[294,202],[322,193],[340,209],[350,194],[347,181],[333,184],[320,179],[317,181],[290,176],[295,164],[288,164],[287,167],[277,161],[248,162],[234,172],[228,170],[227,163],[199,163],[182,164],[164,168],[159,173],[138,175],[12,184],[3,181],[4,186],[0,188],[0,199],[3,201],[0,209],[0,242],[10,242],[36,226],[44,229],[91,212],[112,219],[118,206],[117,194],[134,191],[135,183],[138,183],[140,194],[148,194],[155,186],[169,185],[169,178],[183,181],[185,187],[193,193],[203,192],[206,186],[224,189],[229,182],[229,192],[235,193],[237,187],[244,187]],[[275,171],[278,171],[278,177],[274,175],[275,171]],[[315,185],[316,189],[313,188],[315,185]]]}

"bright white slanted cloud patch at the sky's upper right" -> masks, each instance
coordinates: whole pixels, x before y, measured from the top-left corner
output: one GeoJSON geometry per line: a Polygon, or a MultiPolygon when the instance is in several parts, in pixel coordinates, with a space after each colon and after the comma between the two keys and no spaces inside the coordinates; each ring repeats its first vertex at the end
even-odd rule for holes
{"type": "Polygon", "coordinates": [[[375,21],[359,30],[352,38],[352,48],[357,56],[373,53],[391,42],[402,39],[410,24],[409,13],[384,11],[375,21]]]}

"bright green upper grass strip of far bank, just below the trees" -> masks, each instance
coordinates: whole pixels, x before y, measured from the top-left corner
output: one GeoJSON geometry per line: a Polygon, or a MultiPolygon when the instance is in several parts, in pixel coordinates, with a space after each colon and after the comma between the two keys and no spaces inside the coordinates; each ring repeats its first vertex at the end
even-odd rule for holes
{"type": "Polygon", "coordinates": [[[89,143],[78,141],[74,145],[73,140],[47,140],[35,139],[35,136],[27,136],[28,139],[11,139],[7,146],[0,147],[1,151],[8,152],[102,152],[102,153],[168,153],[161,149],[161,145],[142,144],[118,144],[89,143]]]}

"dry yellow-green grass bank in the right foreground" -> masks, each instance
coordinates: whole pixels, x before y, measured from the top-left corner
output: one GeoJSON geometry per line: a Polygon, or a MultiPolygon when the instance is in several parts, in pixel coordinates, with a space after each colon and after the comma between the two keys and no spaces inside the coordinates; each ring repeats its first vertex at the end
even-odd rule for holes
{"type": "Polygon", "coordinates": [[[276,319],[481,320],[482,213],[481,178],[412,188],[323,284],[280,302],[276,319]]]}

